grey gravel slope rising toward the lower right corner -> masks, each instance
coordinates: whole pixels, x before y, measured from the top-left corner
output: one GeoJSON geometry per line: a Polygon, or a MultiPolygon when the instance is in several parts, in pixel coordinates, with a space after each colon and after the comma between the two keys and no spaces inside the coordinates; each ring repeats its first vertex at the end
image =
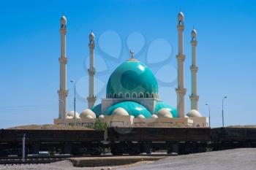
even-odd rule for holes
{"type": "Polygon", "coordinates": [[[204,152],[191,155],[180,155],[168,157],[154,163],[148,163],[140,166],[133,166],[124,169],[177,169],[177,170],[211,170],[211,169],[232,169],[232,170],[255,170],[256,169],[256,148],[223,150],[217,152],[204,152]]]}

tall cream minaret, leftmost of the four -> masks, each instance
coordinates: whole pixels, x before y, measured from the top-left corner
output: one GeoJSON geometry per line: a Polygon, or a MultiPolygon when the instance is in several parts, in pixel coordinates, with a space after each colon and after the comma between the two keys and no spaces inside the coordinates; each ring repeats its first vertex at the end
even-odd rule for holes
{"type": "Polygon", "coordinates": [[[61,57],[60,64],[60,87],[59,93],[59,119],[67,117],[67,58],[66,58],[66,34],[67,34],[67,19],[65,16],[61,17],[61,57]]]}

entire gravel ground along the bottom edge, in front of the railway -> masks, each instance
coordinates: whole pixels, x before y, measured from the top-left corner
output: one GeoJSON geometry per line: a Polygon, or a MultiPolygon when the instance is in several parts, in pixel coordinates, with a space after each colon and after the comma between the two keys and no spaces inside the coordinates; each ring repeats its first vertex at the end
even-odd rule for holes
{"type": "Polygon", "coordinates": [[[180,155],[168,157],[155,162],[140,162],[127,166],[97,167],[97,168],[75,168],[69,161],[60,161],[48,164],[2,166],[1,170],[142,170],[142,169],[177,169],[177,170],[211,170],[211,169],[233,169],[233,170],[255,170],[256,169],[256,148],[223,150],[217,152],[204,152],[191,155],[180,155]]]}

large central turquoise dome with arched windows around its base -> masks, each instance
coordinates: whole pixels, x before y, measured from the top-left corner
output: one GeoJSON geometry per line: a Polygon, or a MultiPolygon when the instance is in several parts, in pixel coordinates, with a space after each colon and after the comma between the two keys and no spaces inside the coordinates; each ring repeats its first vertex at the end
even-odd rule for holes
{"type": "Polygon", "coordinates": [[[107,98],[158,98],[158,85],[148,67],[135,59],[121,63],[110,75],[107,98]]]}

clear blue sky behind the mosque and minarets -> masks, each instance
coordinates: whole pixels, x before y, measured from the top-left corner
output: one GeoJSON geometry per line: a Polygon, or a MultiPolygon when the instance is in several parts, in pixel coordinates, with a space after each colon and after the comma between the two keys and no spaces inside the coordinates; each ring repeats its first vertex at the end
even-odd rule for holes
{"type": "MultiPolygon", "coordinates": [[[[53,123],[58,117],[59,18],[67,17],[67,80],[77,80],[77,110],[87,107],[88,35],[97,37],[98,98],[118,63],[135,57],[159,80],[160,98],[176,106],[176,16],[185,15],[187,111],[190,101],[190,32],[197,29],[199,109],[211,124],[256,124],[256,1],[108,0],[1,1],[0,128],[53,123]]],[[[68,109],[72,109],[73,88],[68,109]]],[[[97,101],[99,103],[99,100],[97,101]]]]}

